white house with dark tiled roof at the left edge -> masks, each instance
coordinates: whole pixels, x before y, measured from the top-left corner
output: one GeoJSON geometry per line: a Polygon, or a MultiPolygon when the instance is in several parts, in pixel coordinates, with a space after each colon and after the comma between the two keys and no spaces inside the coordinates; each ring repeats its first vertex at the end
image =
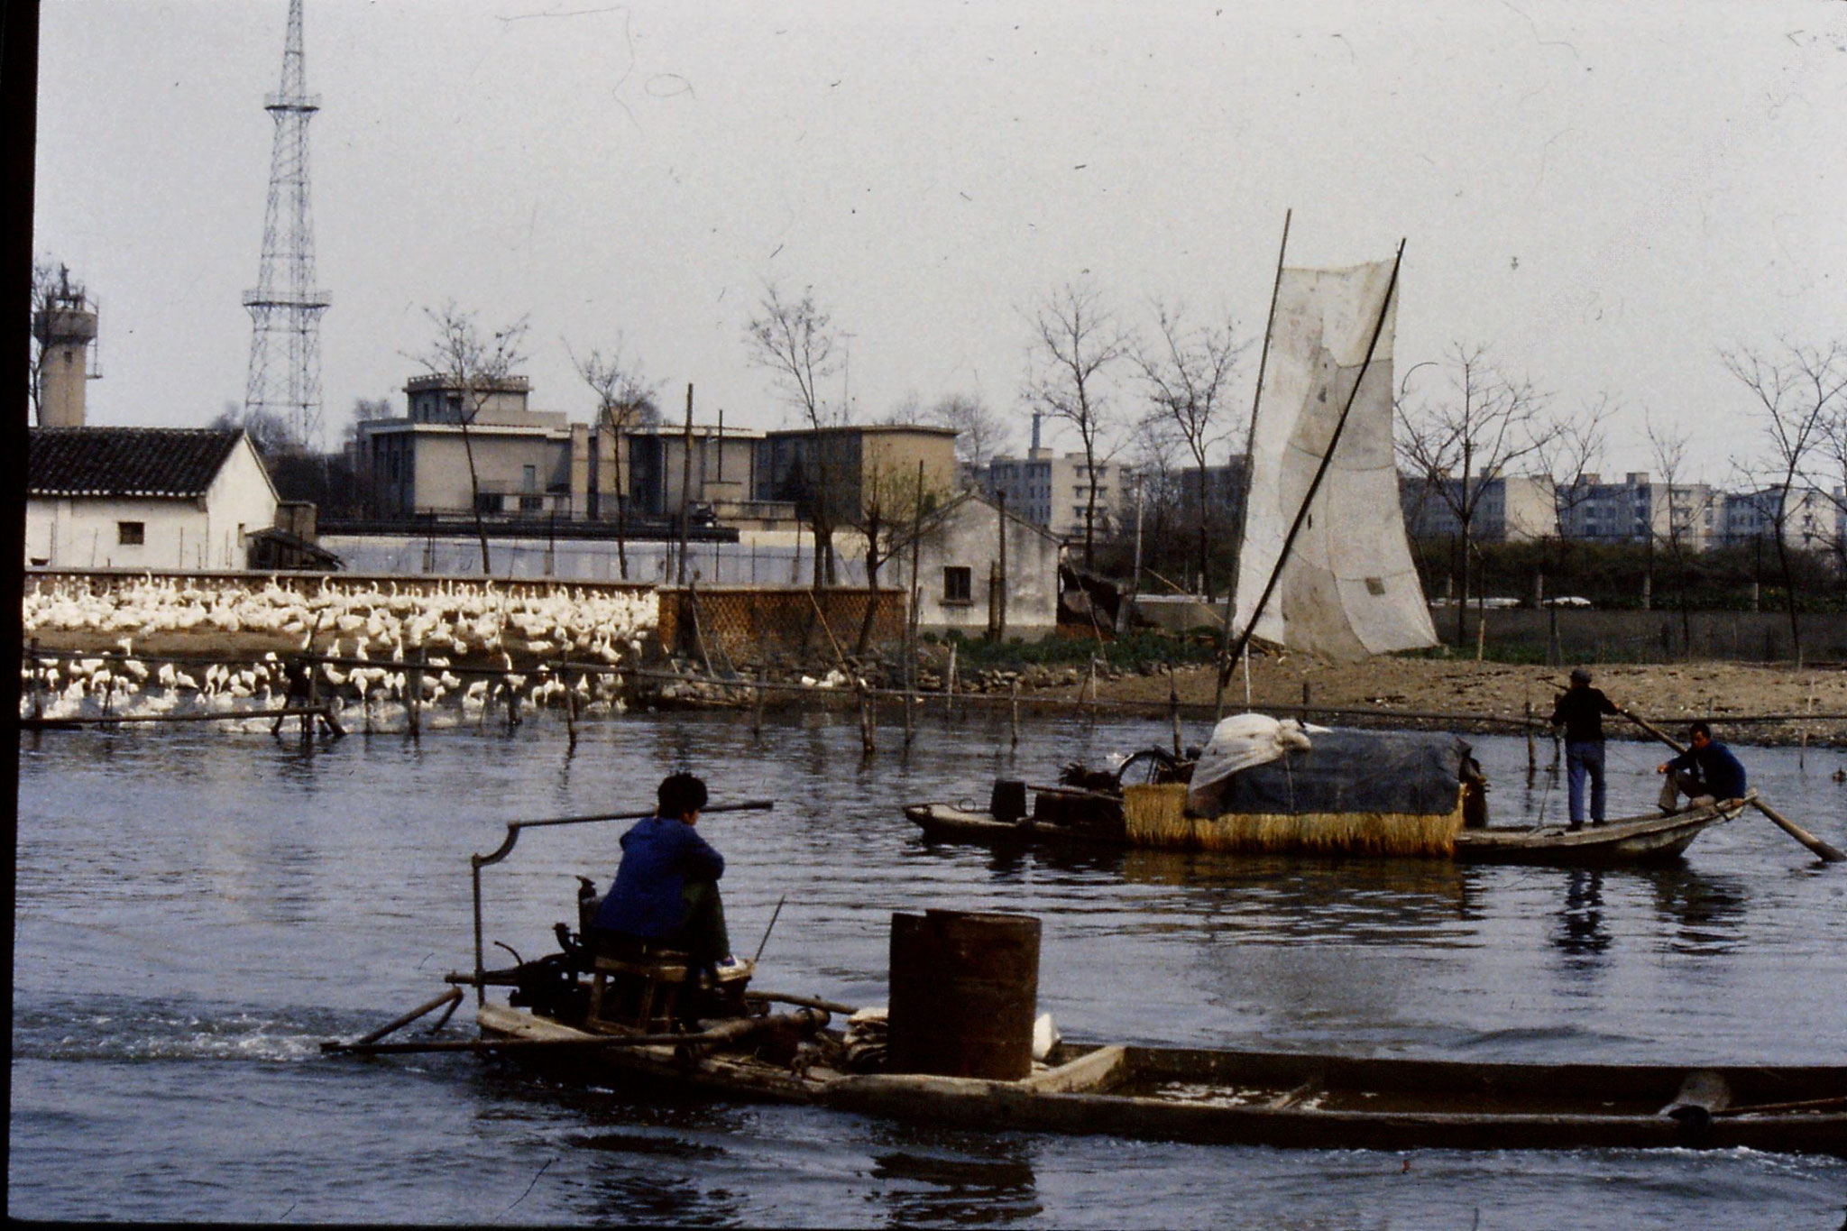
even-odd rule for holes
{"type": "Polygon", "coordinates": [[[277,496],[249,436],[214,428],[35,428],[26,563],[244,568],[277,496]]]}

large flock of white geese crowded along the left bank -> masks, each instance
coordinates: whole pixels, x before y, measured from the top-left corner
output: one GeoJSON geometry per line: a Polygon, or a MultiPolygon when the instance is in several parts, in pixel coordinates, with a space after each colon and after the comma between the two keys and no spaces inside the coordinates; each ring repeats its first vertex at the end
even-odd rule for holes
{"type": "MultiPolygon", "coordinates": [[[[567,690],[589,712],[621,709],[619,675],[580,674],[571,683],[547,672],[539,659],[635,663],[643,640],[658,627],[659,598],[652,589],[462,580],[401,585],[323,578],[296,589],[273,578],[260,585],[201,585],[196,578],[142,576],[100,589],[89,578],[41,578],[24,598],[22,616],[28,640],[41,633],[87,633],[98,644],[113,640],[120,653],[109,659],[42,655],[37,679],[33,664],[22,664],[22,712],[31,712],[33,692],[46,718],[159,714],[183,703],[216,712],[284,703],[286,663],[273,648],[251,663],[170,661],[155,668],[133,653],[137,640],[172,642],[175,639],[163,635],[192,633],[218,639],[218,646],[240,644],[247,653],[281,644],[290,653],[356,659],[358,664],[325,664],[320,696],[340,707],[358,703],[368,722],[377,716],[388,723],[390,709],[412,699],[419,651],[427,668],[423,705],[436,707],[453,696],[462,716],[510,698],[525,705],[565,705],[567,690]],[[495,674],[467,672],[460,666],[464,659],[495,674]]],[[[205,655],[216,657],[218,646],[205,655]]],[[[432,720],[441,723],[436,714],[432,720]]]]}

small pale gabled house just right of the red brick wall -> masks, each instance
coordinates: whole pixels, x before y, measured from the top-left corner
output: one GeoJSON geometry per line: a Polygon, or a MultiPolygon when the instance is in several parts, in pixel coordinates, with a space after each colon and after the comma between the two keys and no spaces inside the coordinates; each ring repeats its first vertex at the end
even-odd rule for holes
{"type": "MultiPolygon", "coordinates": [[[[992,578],[1001,570],[1001,535],[1007,535],[1005,613],[1007,637],[1027,640],[1058,626],[1058,539],[1012,509],[1001,513],[986,496],[964,491],[936,509],[924,526],[918,546],[918,627],[959,629],[970,637],[988,631],[994,618],[992,578]]],[[[892,576],[911,585],[909,552],[892,576]]]]}

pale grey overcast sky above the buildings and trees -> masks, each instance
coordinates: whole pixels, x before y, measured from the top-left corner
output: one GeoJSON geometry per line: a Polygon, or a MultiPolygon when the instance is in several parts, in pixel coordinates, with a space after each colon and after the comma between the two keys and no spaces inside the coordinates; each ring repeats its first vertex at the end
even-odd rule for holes
{"type": "MultiPolygon", "coordinates": [[[[44,7],[35,249],[102,303],[91,423],[242,400],[284,18],[44,7]]],[[[536,408],[587,419],[565,343],[621,334],[674,413],[693,382],[702,421],[779,426],[742,343],[770,279],[851,334],[829,393],[861,415],[1014,413],[1023,312],[1068,281],[1256,336],[1291,207],[1289,264],[1406,240],[1400,373],[1468,341],[1559,406],[1607,391],[1616,471],[1648,408],[1725,480],[1755,428],[1720,349],[1847,334],[1841,4],[308,0],[305,28],[329,439],[403,406],[451,299],[530,317],[536,408]]],[[[1243,406],[1254,375],[1256,347],[1243,406]]]]}

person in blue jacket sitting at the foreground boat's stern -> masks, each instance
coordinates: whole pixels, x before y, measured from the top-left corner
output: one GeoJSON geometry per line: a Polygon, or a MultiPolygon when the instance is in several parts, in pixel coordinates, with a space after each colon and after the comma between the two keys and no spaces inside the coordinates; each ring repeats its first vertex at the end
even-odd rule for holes
{"type": "Polygon", "coordinates": [[[718,897],[724,856],[693,829],[706,807],[706,783],[670,773],[656,799],[656,814],[622,834],[615,884],[585,939],[602,949],[610,941],[656,941],[685,950],[696,969],[711,973],[731,963],[731,939],[718,897]]]}

